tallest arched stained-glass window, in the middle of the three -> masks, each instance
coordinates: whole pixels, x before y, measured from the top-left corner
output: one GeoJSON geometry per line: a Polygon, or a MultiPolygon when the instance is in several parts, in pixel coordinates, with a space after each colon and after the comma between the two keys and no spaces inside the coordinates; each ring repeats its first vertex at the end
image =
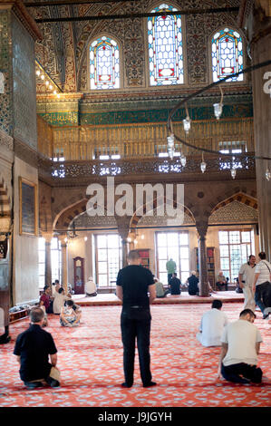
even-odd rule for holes
{"type": "MultiPolygon", "coordinates": [[[[173,12],[177,9],[162,4],[151,11],[173,12]]],[[[183,44],[180,15],[148,18],[150,85],[183,83],[183,44]]]]}

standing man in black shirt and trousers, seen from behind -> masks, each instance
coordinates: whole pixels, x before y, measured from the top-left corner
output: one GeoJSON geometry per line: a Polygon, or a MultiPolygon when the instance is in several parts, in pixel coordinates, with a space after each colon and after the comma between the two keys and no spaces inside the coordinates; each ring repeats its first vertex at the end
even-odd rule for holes
{"type": "Polygon", "coordinates": [[[128,264],[119,271],[116,288],[116,295],[122,301],[121,338],[125,377],[122,386],[131,388],[133,384],[137,339],[141,381],[147,388],[156,384],[151,382],[150,373],[150,304],[155,299],[155,284],[150,270],[140,266],[140,256],[136,250],[129,253],[128,264]]]}

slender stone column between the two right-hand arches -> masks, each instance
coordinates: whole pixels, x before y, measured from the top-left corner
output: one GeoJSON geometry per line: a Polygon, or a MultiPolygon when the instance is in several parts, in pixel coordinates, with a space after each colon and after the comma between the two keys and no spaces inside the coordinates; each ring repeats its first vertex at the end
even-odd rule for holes
{"type": "Polygon", "coordinates": [[[197,226],[198,229],[198,265],[199,265],[199,295],[208,296],[208,265],[206,234],[208,226],[197,226]]]}

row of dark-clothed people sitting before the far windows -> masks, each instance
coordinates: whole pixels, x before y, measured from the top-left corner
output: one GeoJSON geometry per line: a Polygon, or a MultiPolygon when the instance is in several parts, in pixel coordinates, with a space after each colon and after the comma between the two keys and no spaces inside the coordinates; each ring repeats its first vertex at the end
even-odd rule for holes
{"type": "MultiPolygon", "coordinates": [[[[173,272],[168,275],[168,288],[165,290],[163,284],[157,279],[154,278],[156,286],[156,297],[166,297],[166,295],[180,295],[181,293],[181,282],[177,277],[177,273],[173,272]]],[[[198,276],[196,271],[191,271],[191,275],[187,279],[186,283],[183,285],[188,288],[189,295],[199,295],[198,287],[198,276]]],[[[210,293],[217,293],[208,283],[208,290],[210,293]]]]}

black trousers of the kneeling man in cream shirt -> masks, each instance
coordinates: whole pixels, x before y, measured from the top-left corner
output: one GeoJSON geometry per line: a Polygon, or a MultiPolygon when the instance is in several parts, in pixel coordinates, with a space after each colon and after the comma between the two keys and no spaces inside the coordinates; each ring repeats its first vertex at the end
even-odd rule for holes
{"type": "Polygon", "coordinates": [[[222,363],[221,374],[229,382],[244,383],[246,382],[245,378],[251,382],[260,383],[262,382],[263,372],[256,365],[248,365],[247,363],[234,363],[227,366],[222,363]]]}

